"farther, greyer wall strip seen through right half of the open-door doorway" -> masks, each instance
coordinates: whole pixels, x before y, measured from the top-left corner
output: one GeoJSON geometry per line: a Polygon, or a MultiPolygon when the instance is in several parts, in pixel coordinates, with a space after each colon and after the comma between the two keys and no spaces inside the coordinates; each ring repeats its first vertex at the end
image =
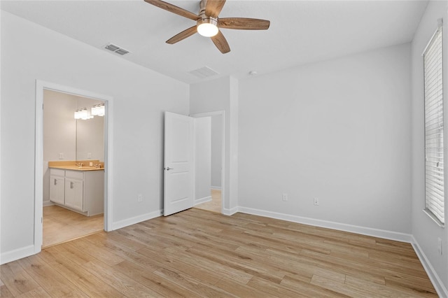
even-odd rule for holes
{"type": "Polygon", "coordinates": [[[211,117],[211,187],[221,190],[223,116],[211,117]]]}

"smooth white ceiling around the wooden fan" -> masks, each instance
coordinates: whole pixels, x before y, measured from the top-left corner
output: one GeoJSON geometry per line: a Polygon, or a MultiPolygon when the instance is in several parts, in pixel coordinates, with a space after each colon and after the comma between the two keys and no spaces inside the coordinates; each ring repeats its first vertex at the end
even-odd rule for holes
{"type": "MultiPolygon", "coordinates": [[[[166,0],[197,13],[199,0],[166,0]]],[[[186,83],[188,73],[208,66],[219,76],[244,78],[300,64],[342,57],[412,41],[428,1],[256,1],[228,0],[220,17],[271,21],[268,30],[223,29],[231,52],[221,54],[209,38],[195,34],[169,45],[167,39],[194,21],[143,0],[0,1],[6,10],[79,41],[102,48],[114,43],[123,56],[186,83]]],[[[118,55],[104,50],[110,55],[118,55]]]]}

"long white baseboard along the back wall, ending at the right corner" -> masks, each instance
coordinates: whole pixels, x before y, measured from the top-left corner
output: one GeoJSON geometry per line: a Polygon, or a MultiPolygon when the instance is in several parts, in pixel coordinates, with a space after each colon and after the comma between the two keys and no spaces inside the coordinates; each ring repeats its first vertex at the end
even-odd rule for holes
{"type": "Polygon", "coordinates": [[[265,216],[267,218],[276,218],[278,220],[288,220],[290,222],[298,222],[304,225],[314,225],[316,227],[325,227],[328,229],[337,229],[339,231],[351,232],[367,236],[374,236],[383,239],[391,239],[395,241],[411,243],[412,235],[405,233],[398,233],[386,231],[384,229],[372,229],[370,227],[359,227],[356,225],[347,225],[339,222],[330,222],[327,220],[316,220],[314,218],[304,218],[297,215],[289,215],[284,213],[277,213],[272,211],[264,211],[254,208],[238,207],[238,211],[253,215],[265,216]]]}

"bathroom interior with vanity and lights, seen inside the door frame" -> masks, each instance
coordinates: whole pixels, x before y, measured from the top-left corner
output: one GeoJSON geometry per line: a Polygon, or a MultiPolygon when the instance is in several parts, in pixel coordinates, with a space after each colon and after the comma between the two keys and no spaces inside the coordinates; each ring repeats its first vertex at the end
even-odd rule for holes
{"type": "MultiPolygon", "coordinates": [[[[56,183],[66,182],[62,176],[52,176],[52,172],[69,171],[81,176],[90,177],[86,171],[104,176],[104,113],[96,113],[92,108],[104,107],[104,101],[80,97],[55,90],[43,90],[43,239],[42,248],[64,243],[83,236],[104,230],[104,213],[83,214],[83,208],[71,208],[64,204],[51,192],[57,191],[56,183]],[[92,115],[92,111],[94,114],[92,115]],[[76,113],[75,113],[76,112],[76,113]],[[81,115],[85,113],[85,115],[81,115]],[[78,119],[76,119],[78,118],[78,119]],[[71,170],[73,165],[79,164],[78,169],[71,170]],[[97,169],[91,169],[95,164],[97,169]],[[59,165],[59,166],[58,166],[59,165]],[[66,165],[66,169],[62,166],[66,165]],[[100,167],[98,168],[98,165],[100,167]],[[57,168],[52,167],[57,166],[57,168]],[[62,168],[61,168],[62,167],[62,168]],[[85,171],[84,171],[85,169],[85,171]],[[55,183],[52,187],[51,183],[55,183]]],[[[95,199],[104,206],[104,178],[95,199]]],[[[80,185],[83,191],[87,183],[80,185]]],[[[60,183],[62,184],[62,183],[60,183]]],[[[70,186],[70,185],[69,185],[70,186]]],[[[67,187],[64,185],[62,187],[67,187]]],[[[66,190],[65,190],[66,191],[66,190]]],[[[66,197],[67,194],[65,194],[66,197]]],[[[84,198],[85,200],[85,198],[84,198]]],[[[84,202],[85,204],[87,202],[84,202]]],[[[85,208],[86,209],[86,208],[85,208]]],[[[87,209],[86,209],[87,210],[87,209]]]]}

